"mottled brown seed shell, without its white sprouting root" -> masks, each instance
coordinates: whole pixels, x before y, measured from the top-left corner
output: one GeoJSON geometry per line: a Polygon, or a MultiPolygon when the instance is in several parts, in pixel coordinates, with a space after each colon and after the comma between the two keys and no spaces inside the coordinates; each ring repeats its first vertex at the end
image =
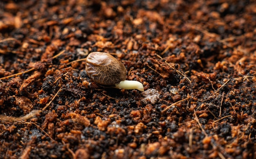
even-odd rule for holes
{"type": "Polygon", "coordinates": [[[88,54],[85,71],[94,82],[101,85],[115,85],[126,79],[124,64],[105,52],[88,54]]]}

